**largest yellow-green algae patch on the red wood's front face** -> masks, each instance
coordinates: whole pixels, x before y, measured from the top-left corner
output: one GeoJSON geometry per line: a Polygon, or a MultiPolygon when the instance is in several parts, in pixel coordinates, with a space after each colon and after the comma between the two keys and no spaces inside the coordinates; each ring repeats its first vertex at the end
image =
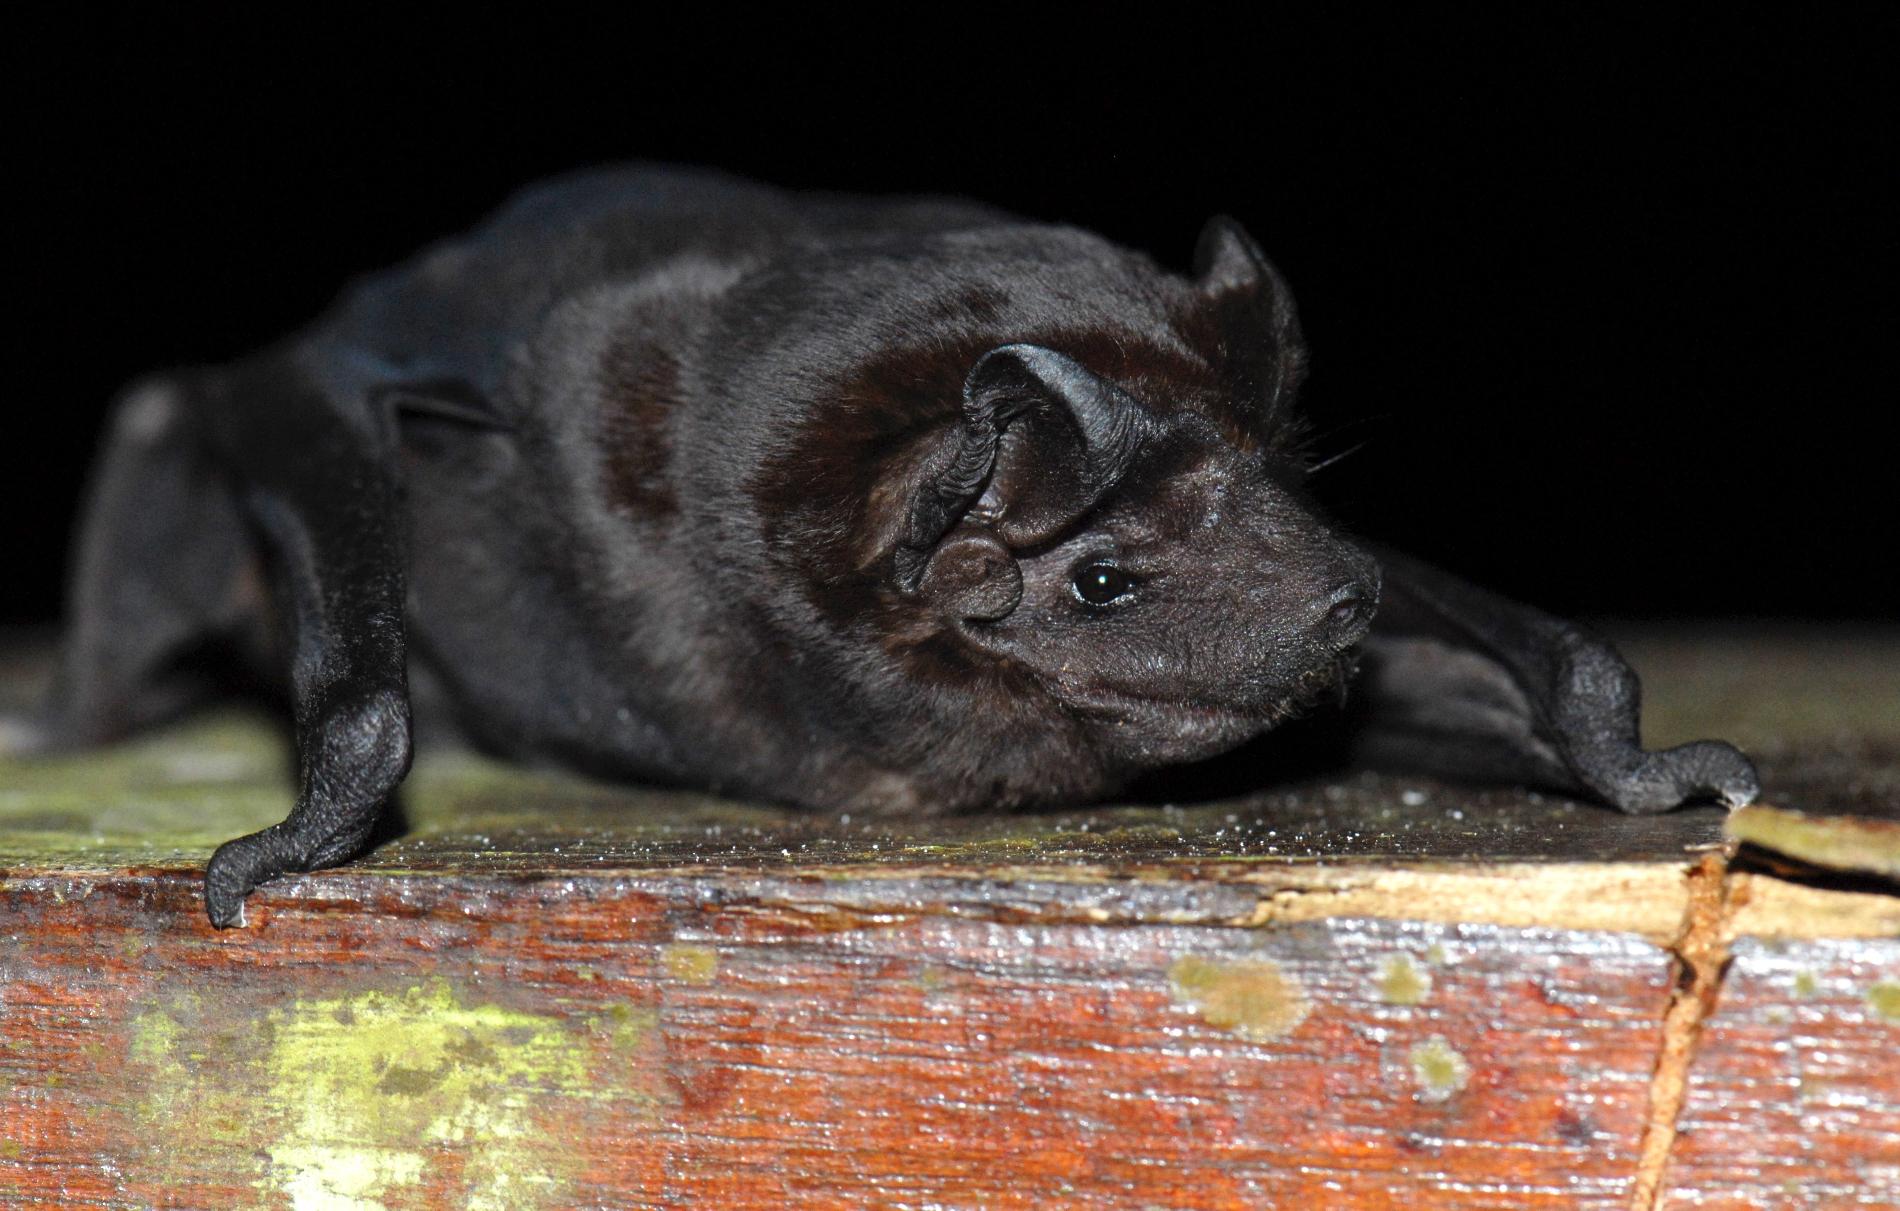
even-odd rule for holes
{"type": "Polygon", "coordinates": [[[247,1000],[180,992],[135,1019],[139,1163],[154,1175],[220,1173],[296,1211],[443,1188],[460,1207],[526,1211],[559,1205],[576,1129],[602,1103],[657,1101],[650,1009],[530,1013],[445,979],[247,1000]]]}

